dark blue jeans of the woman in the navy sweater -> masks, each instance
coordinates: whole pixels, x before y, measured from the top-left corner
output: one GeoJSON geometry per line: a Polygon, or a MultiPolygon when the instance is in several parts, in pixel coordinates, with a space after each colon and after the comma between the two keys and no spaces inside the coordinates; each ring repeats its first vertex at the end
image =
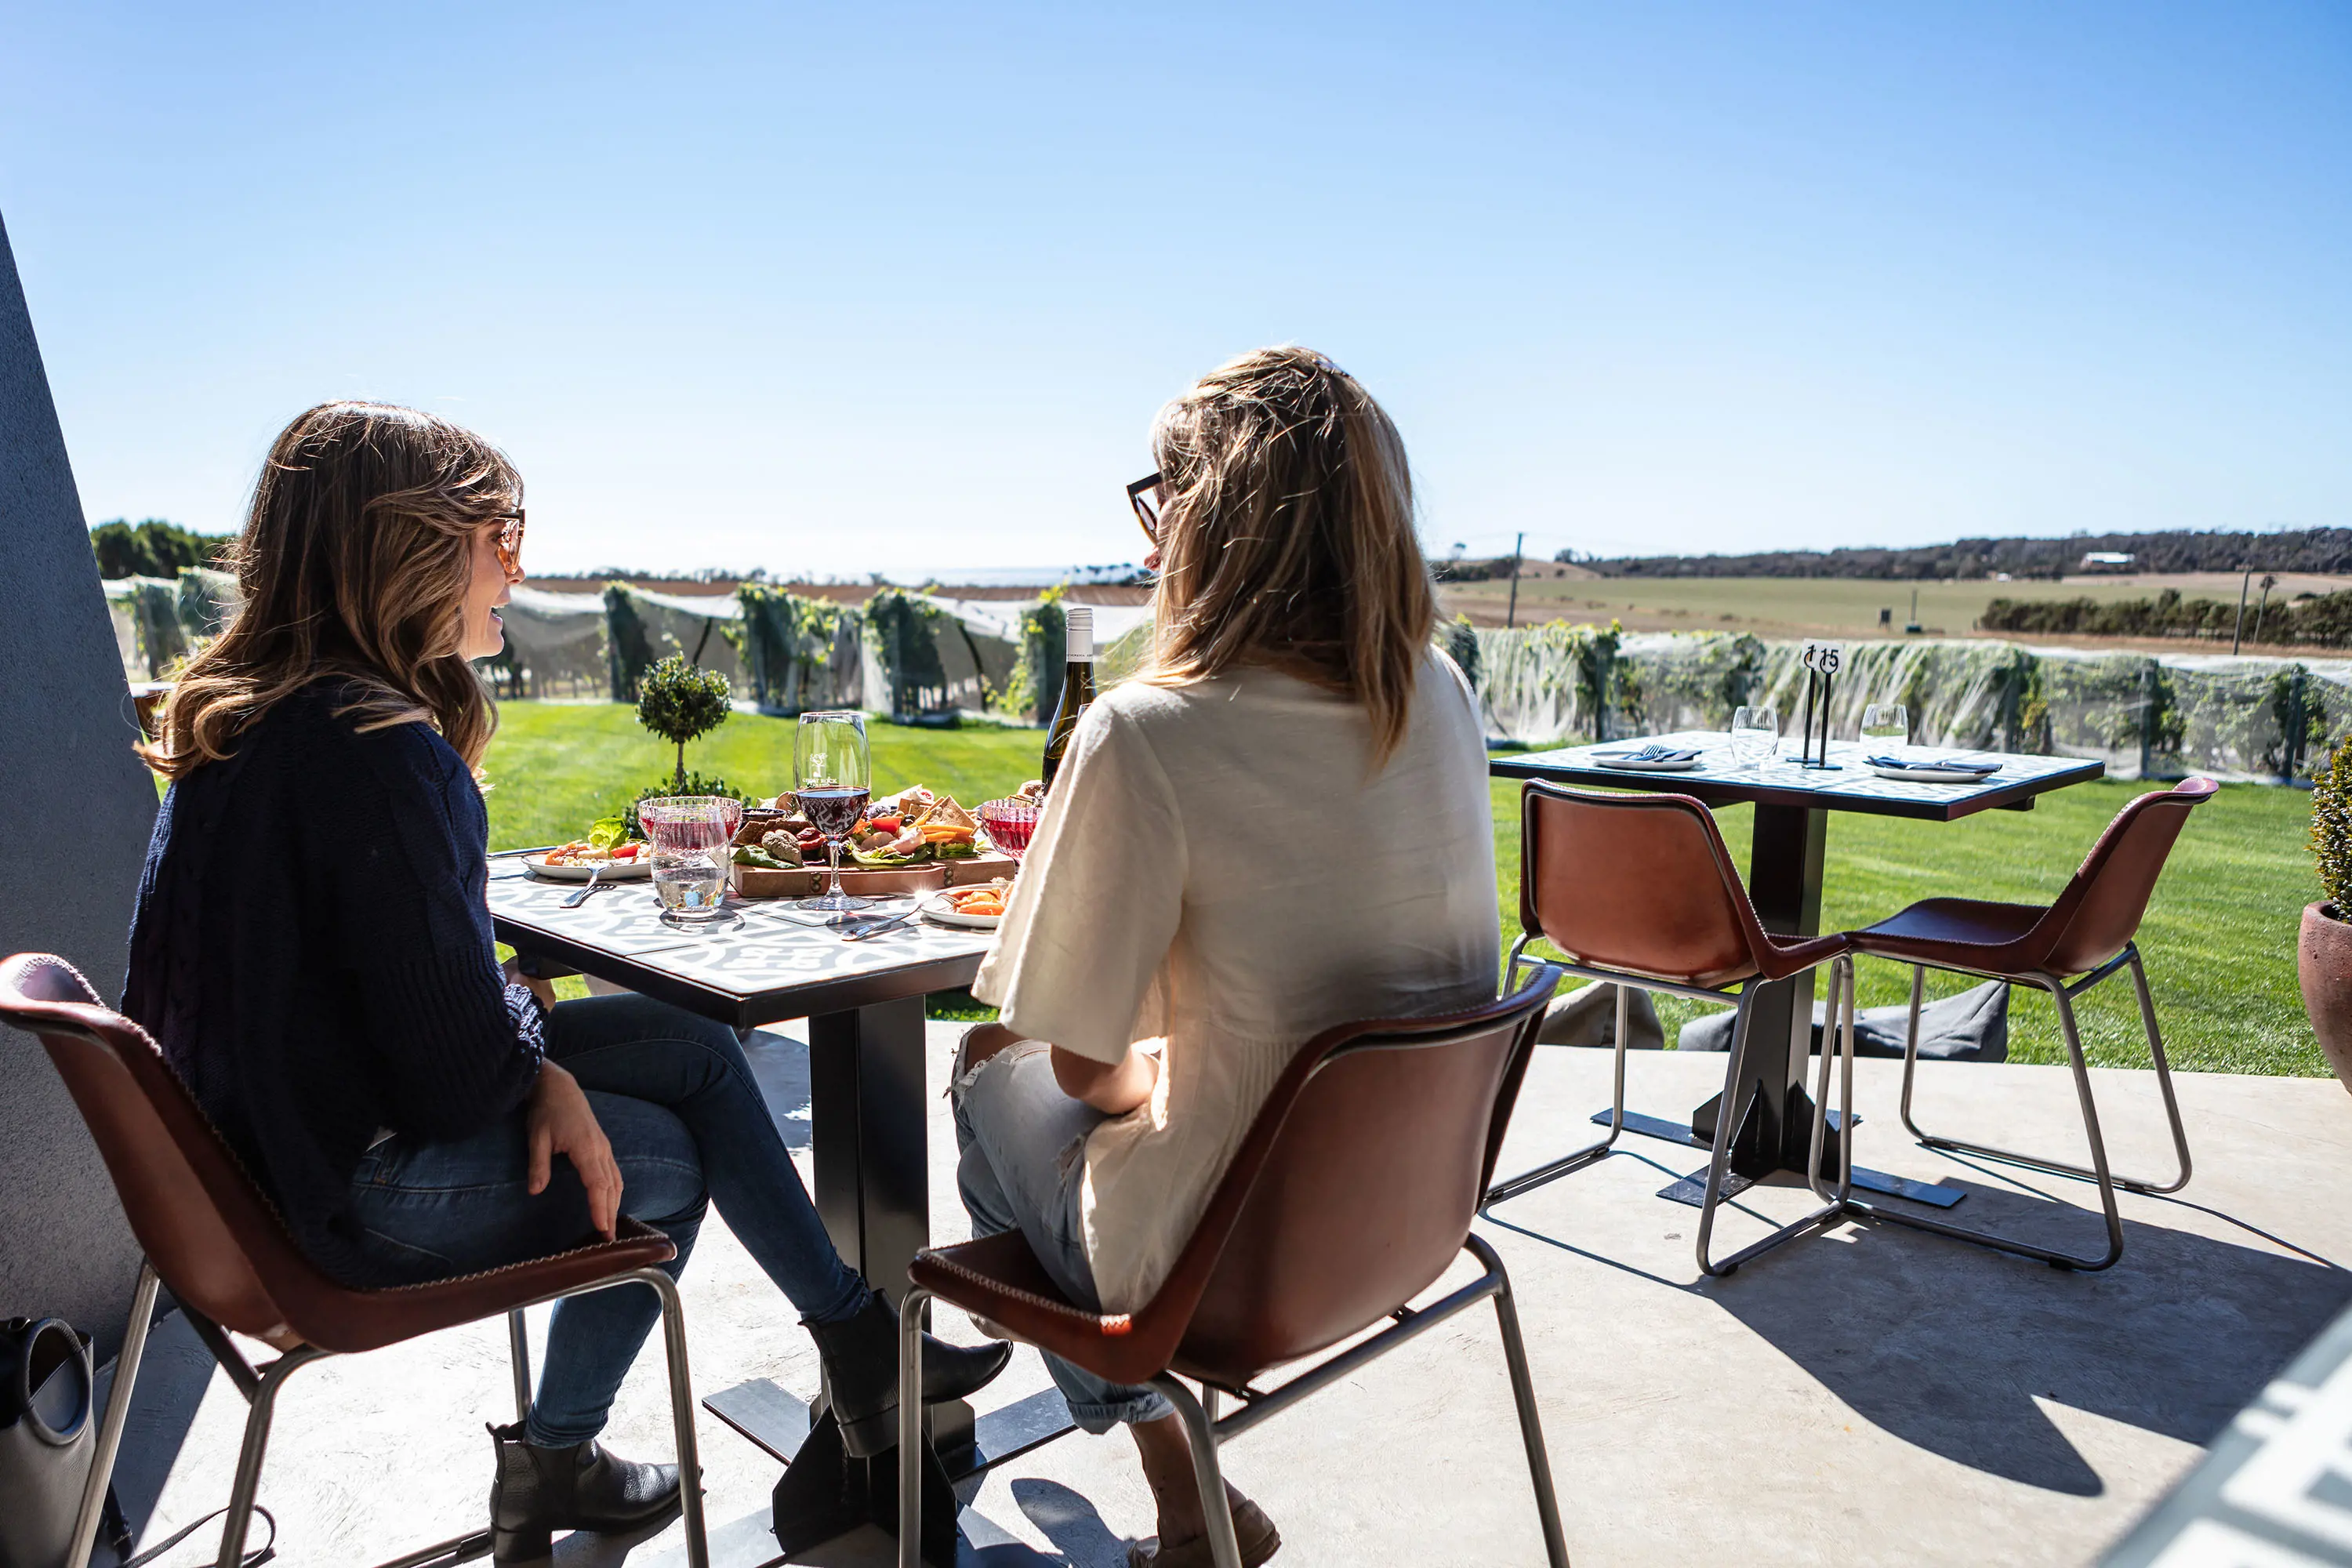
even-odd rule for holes
{"type": "MultiPolygon", "coordinates": [[[[833,1251],[734,1030],[652,997],[588,997],[548,1013],[548,1056],[588,1091],[621,1166],[621,1213],[677,1244],[666,1265],[673,1279],[717,1199],[727,1227],[807,1321],[866,1305],[866,1281],[833,1251]]],[[[572,1161],[555,1161],[539,1197],[527,1182],[515,1112],[456,1143],[386,1138],[350,1178],[350,1213],[365,1246],[437,1276],[579,1246],[590,1234],[588,1194],[572,1161]]],[[[602,1432],[659,1316],[654,1293],[635,1286],[557,1302],[524,1436],[562,1448],[602,1432]]]]}

